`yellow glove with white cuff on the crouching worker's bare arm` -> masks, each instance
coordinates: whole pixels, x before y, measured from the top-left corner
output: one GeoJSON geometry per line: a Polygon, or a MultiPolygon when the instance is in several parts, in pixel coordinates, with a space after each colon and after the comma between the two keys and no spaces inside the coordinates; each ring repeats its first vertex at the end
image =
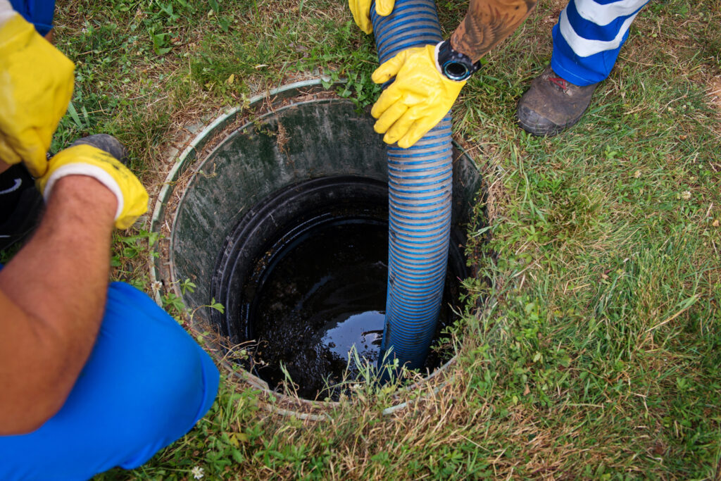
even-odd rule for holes
{"type": "Polygon", "coordinates": [[[105,185],[118,198],[115,227],[127,229],[148,211],[148,193],[138,177],[112,155],[97,147],[77,145],[58,152],[48,163],[48,172],[37,179],[45,202],[58,179],[66,175],[87,175],[105,185]]]}

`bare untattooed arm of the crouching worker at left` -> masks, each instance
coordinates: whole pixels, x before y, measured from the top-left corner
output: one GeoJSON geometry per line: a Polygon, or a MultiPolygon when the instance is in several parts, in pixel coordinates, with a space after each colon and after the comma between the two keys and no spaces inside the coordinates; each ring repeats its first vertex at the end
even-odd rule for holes
{"type": "Polygon", "coordinates": [[[87,361],[105,304],[115,207],[115,195],[90,177],[58,180],[36,234],[0,271],[0,381],[14,387],[0,396],[5,428],[8,410],[33,418],[59,408],[87,361]]]}

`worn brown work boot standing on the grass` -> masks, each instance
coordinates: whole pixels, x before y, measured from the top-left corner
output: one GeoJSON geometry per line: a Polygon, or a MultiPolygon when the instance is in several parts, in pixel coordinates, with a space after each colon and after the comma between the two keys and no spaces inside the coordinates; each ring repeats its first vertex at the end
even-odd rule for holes
{"type": "Polygon", "coordinates": [[[597,86],[571,84],[559,77],[549,65],[518,101],[518,123],[534,136],[561,133],[580,120],[597,86]]]}

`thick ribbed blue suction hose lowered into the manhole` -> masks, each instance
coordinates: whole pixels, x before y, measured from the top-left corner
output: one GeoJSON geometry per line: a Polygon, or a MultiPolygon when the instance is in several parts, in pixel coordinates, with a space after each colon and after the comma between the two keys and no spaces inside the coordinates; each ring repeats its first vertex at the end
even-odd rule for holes
{"type": "MultiPolygon", "coordinates": [[[[381,17],[371,5],[380,63],[402,50],[443,40],[433,0],[396,0],[381,17]]],[[[400,366],[423,367],[441,310],[448,263],[453,180],[451,116],[410,149],[388,146],[389,231],[387,350],[400,366]]]]}

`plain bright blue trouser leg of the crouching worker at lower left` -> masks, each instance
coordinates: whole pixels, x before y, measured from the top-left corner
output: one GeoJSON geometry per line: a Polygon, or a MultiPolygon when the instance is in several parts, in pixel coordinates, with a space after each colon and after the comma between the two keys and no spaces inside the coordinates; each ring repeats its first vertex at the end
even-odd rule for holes
{"type": "Polygon", "coordinates": [[[211,357],[146,294],[112,283],[92,353],[61,410],[0,436],[1,480],[84,480],[131,469],[185,435],[216,397],[211,357]]]}

